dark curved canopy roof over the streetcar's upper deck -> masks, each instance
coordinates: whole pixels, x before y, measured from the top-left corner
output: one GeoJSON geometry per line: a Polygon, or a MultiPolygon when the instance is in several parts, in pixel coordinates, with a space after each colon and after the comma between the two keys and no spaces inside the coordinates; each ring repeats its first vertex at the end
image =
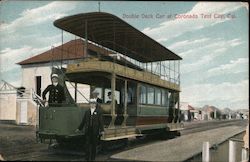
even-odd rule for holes
{"type": "Polygon", "coordinates": [[[58,19],[54,25],[82,38],[85,38],[85,27],[87,27],[88,40],[140,62],[182,59],[122,19],[109,13],[77,14],[58,19]]]}

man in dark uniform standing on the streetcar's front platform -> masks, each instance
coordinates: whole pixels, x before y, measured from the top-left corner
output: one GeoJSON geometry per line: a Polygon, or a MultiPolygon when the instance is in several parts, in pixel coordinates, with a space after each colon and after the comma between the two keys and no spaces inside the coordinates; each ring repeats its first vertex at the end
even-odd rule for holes
{"type": "Polygon", "coordinates": [[[58,83],[58,75],[53,74],[51,76],[51,85],[43,91],[43,100],[46,101],[46,94],[49,92],[49,106],[60,106],[65,101],[64,88],[58,83]]]}

